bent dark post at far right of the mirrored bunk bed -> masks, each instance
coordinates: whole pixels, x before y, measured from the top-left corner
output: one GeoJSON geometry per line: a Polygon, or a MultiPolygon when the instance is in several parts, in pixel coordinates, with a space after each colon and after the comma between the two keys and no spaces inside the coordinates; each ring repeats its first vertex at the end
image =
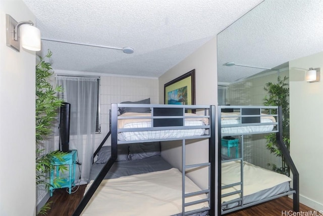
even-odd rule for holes
{"type": "Polygon", "coordinates": [[[295,193],[293,194],[293,210],[298,212],[299,211],[299,174],[296,169],[296,166],[290,156],[290,153],[283,141],[283,112],[282,107],[278,108],[278,114],[280,116],[279,118],[279,132],[276,133],[276,140],[278,142],[278,145],[283,153],[283,157],[285,158],[285,161],[289,168],[292,170],[293,173],[293,190],[295,190],[295,193]]]}

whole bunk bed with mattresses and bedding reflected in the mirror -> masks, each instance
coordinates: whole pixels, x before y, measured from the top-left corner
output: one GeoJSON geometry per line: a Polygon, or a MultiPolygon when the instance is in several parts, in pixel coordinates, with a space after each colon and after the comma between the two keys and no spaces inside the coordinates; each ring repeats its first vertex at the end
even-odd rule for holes
{"type": "Polygon", "coordinates": [[[282,131],[281,107],[218,106],[218,215],[291,194],[293,210],[299,211],[298,171],[283,142],[282,131]],[[293,187],[289,177],[244,161],[244,136],[270,133],[276,134],[292,171],[293,187]],[[228,143],[240,149],[235,156],[230,155],[232,146],[228,143]],[[221,153],[222,145],[228,147],[226,155],[221,153]]]}

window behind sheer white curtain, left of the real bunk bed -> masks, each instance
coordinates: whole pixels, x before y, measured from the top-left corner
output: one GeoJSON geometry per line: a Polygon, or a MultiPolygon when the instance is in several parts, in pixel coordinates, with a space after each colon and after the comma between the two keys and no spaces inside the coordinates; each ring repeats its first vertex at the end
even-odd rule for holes
{"type": "Polygon", "coordinates": [[[70,135],[100,133],[99,77],[57,76],[59,94],[71,104],[70,135]]]}

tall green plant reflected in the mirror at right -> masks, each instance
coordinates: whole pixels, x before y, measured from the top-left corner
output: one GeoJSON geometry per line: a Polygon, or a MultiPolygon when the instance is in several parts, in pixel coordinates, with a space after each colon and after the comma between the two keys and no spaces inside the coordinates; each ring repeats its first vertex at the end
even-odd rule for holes
{"type": "MultiPolygon", "coordinates": [[[[278,76],[277,83],[268,82],[263,88],[267,92],[267,96],[263,99],[263,105],[265,106],[281,106],[282,107],[282,120],[283,120],[283,142],[285,143],[288,151],[290,149],[290,137],[289,137],[289,85],[286,83],[288,77],[283,79],[278,76]]],[[[266,147],[271,153],[278,157],[282,157],[282,166],[279,167],[276,164],[269,163],[272,169],[281,174],[289,176],[289,167],[285,162],[285,158],[279,148],[276,140],[276,134],[270,134],[266,137],[266,147]]]]}

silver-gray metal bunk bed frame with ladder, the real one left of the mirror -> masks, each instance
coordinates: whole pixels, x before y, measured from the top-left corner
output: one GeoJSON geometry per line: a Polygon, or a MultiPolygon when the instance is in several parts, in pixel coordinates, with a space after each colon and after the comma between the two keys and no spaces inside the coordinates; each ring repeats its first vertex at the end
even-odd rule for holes
{"type": "MultiPolygon", "coordinates": [[[[73,216],[78,216],[82,213],[83,209],[87,205],[87,203],[90,201],[91,197],[93,196],[94,192],[104,179],[107,172],[110,170],[112,165],[117,159],[118,156],[118,143],[136,143],[136,142],[159,142],[159,141],[170,141],[170,140],[183,140],[182,142],[182,215],[189,215],[193,214],[199,211],[205,211],[208,210],[208,215],[214,216],[216,215],[216,210],[218,209],[218,204],[216,202],[217,197],[217,190],[216,190],[216,182],[218,182],[218,176],[216,175],[217,167],[216,167],[216,161],[217,161],[217,148],[216,148],[216,110],[215,106],[198,106],[198,105],[152,105],[152,104],[112,104],[111,105],[111,116],[110,116],[110,131],[107,133],[103,141],[101,142],[98,149],[95,151],[94,155],[98,152],[99,148],[103,146],[107,138],[111,135],[111,157],[107,162],[105,163],[104,167],[99,172],[98,176],[92,183],[92,186],[88,189],[86,194],[84,195],[83,199],[77,206],[76,210],[72,214],[73,216]],[[118,129],[118,109],[119,107],[149,107],[151,108],[152,116],[150,117],[152,119],[152,126],[151,128],[136,128],[136,129],[118,129]],[[208,134],[202,135],[202,136],[195,136],[195,137],[185,137],[185,138],[172,138],[172,139],[165,139],[165,140],[140,140],[140,141],[118,141],[118,133],[120,131],[157,131],[164,130],[164,129],[188,129],[188,128],[201,128],[201,126],[164,126],[164,127],[153,127],[153,119],[160,119],[160,118],[182,118],[183,123],[185,120],[185,116],[153,116],[153,110],[154,108],[182,108],[184,113],[185,110],[197,110],[197,109],[204,109],[204,116],[200,117],[207,117],[209,119],[209,124],[202,126],[202,128],[205,128],[206,131],[208,131],[208,134]],[[208,110],[208,113],[207,113],[208,110]],[[209,140],[209,162],[208,163],[200,163],[200,164],[191,164],[191,165],[185,165],[185,140],[186,139],[206,139],[209,140]],[[185,170],[187,168],[193,168],[193,167],[205,167],[208,166],[208,189],[207,190],[201,190],[195,193],[185,194],[185,170]],[[185,203],[185,197],[194,196],[198,194],[206,193],[208,194],[208,198],[205,200],[198,200],[191,203],[185,203]],[[197,209],[194,211],[185,212],[185,206],[197,204],[200,202],[208,201],[209,208],[208,209],[197,209]]],[[[191,118],[192,116],[190,116],[191,118]]],[[[145,117],[140,117],[145,118],[145,117]]]]}

